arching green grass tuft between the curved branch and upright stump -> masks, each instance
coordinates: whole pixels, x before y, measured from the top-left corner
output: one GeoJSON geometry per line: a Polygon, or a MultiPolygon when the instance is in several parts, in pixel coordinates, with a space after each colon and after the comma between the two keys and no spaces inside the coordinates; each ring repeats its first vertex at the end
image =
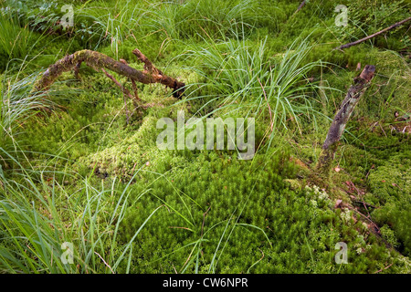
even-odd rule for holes
{"type": "MultiPolygon", "coordinates": [[[[244,29],[244,27],[243,27],[244,29]]],[[[295,41],[284,54],[269,57],[267,38],[258,45],[239,39],[192,49],[186,57],[205,81],[194,85],[188,100],[204,99],[203,108],[214,108],[206,115],[225,114],[255,118],[266,131],[267,145],[283,130],[301,130],[302,120],[316,128],[317,82],[309,80],[321,61],[305,63],[311,47],[295,41]]]]}

